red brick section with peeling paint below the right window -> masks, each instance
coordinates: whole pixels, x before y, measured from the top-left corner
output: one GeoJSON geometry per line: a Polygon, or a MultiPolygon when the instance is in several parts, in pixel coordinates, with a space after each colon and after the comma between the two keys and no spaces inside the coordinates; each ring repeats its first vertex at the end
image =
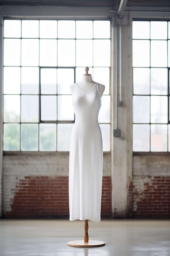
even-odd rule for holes
{"type": "Polygon", "coordinates": [[[170,177],[134,176],[133,213],[136,218],[169,218],[170,177]]]}

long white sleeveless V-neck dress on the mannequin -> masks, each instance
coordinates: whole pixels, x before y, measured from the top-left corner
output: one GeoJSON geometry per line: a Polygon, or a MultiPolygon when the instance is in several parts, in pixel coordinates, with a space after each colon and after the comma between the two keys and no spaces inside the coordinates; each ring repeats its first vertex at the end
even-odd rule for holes
{"type": "Polygon", "coordinates": [[[69,152],[69,219],[100,222],[103,142],[98,123],[101,108],[98,83],[87,93],[76,83],[72,106],[75,123],[69,152]]]}

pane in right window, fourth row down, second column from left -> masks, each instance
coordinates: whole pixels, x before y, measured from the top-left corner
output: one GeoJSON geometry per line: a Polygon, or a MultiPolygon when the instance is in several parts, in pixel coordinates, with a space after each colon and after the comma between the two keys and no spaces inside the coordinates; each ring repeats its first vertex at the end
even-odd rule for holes
{"type": "Polygon", "coordinates": [[[168,122],[168,97],[151,96],[151,123],[168,122]]]}

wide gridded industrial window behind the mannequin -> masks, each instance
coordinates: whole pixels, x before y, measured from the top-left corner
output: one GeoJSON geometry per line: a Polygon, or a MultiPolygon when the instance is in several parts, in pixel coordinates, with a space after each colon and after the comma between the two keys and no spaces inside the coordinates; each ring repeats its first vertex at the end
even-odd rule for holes
{"type": "Polygon", "coordinates": [[[110,151],[110,36],[110,21],[4,20],[4,150],[69,151],[69,85],[89,66],[106,86],[98,122],[110,151]]]}

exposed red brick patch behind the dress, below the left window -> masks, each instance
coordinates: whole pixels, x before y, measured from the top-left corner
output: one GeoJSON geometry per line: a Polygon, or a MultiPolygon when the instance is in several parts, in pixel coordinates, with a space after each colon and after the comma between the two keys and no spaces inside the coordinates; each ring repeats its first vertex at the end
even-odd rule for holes
{"type": "MultiPolygon", "coordinates": [[[[10,208],[5,208],[2,217],[69,218],[68,176],[24,176],[19,180],[15,178],[16,185],[11,188],[13,197],[4,193],[4,197],[10,200],[10,208]]],[[[104,176],[101,217],[111,216],[111,194],[111,176],[104,176]]]]}

